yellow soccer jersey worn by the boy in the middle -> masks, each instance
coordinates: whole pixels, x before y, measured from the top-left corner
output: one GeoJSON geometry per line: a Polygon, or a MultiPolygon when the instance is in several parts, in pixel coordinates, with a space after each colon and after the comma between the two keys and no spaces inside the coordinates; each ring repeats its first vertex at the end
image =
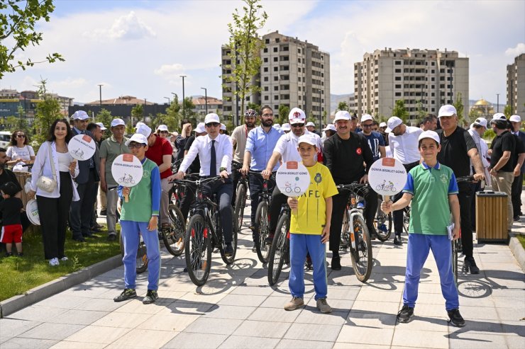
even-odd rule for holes
{"type": "Polygon", "coordinates": [[[321,235],[326,224],[325,199],[338,194],[338,190],[326,166],[318,162],[306,168],[310,173],[310,186],[298,199],[297,214],[292,213],[290,233],[321,235]]]}

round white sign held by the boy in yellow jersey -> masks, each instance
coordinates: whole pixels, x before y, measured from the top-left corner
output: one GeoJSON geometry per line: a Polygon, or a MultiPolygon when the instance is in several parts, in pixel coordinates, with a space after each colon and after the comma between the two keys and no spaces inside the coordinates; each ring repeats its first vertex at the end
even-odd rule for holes
{"type": "Polygon", "coordinates": [[[310,173],[297,161],[288,161],[280,166],[275,177],[277,188],[286,196],[299,197],[310,185],[310,173]]]}

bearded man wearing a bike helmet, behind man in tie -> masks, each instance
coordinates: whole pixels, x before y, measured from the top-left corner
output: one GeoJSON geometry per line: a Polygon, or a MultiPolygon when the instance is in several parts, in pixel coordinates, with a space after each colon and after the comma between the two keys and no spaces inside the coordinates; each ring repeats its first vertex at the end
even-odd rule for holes
{"type": "Polygon", "coordinates": [[[255,127],[255,120],[257,120],[257,112],[253,109],[248,109],[244,113],[244,125],[237,126],[231,132],[231,143],[233,144],[233,160],[231,161],[231,180],[233,182],[233,198],[231,205],[235,206],[236,188],[241,173],[238,170],[243,167],[244,149],[246,148],[246,139],[248,139],[248,132],[255,127]]]}

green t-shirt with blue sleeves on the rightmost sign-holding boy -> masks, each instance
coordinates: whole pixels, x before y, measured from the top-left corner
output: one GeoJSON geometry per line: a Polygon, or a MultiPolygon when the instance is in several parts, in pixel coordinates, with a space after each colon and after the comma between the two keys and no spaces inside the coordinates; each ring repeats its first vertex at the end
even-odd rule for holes
{"type": "Polygon", "coordinates": [[[412,168],[404,193],[414,195],[411,203],[409,233],[446,235],[451,224],[448,195],[458,194],[458,183],[450,167],[430,168],[425,163],[412,168]]]}

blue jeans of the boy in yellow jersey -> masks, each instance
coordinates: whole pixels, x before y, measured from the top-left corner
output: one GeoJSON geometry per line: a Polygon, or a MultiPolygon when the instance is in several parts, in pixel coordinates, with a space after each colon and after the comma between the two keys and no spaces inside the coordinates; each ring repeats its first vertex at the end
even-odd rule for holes
{"type": "Polygon", "coordinates": [[[326,244],[321,235],[290,234],[290,275],[288,287],[293,297],[304,297],[304,260],[310,253],[314,267],[315,299],[326,298],[326,244]]]}

